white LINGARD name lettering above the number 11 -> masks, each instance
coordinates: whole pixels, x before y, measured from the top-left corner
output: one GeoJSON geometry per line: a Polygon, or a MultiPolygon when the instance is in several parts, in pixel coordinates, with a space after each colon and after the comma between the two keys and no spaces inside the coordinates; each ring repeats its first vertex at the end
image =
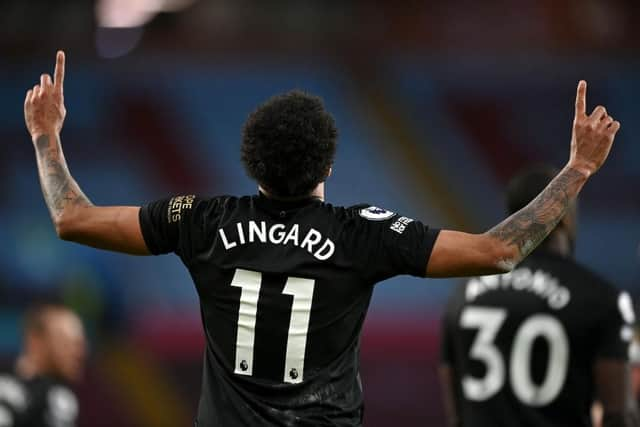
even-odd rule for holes
{"type": "Polygon", "coordinates": [[[250,243],[272,243],[274,245],[293,245],[306,250],[320,261],[326,261],[335,252],[336,246],[318,230],[310,228],[303,234],[298,224],[285,226],[265,221],[238,222],[235,227],[218,229],[225,250],[250,243]]]}

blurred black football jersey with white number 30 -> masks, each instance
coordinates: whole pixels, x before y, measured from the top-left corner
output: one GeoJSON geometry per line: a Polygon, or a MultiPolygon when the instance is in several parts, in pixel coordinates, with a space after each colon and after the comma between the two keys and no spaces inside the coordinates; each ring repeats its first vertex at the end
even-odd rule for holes
{"type": "Polygon", "coordinates": [[[459,286],[442,359],[461,425],[591,426],[594,361],[627,359],[633,321],[628,294],[550,253],[459,286]]]}

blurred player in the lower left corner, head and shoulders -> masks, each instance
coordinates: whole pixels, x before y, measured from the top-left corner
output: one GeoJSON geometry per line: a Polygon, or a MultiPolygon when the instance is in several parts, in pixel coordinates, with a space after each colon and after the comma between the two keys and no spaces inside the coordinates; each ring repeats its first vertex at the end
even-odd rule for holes
{"type": "Polygon", "coordinates": [[[78,316],[57,304],[30,308],[15,373],[0,375],[0,427],[74,427],[71,386],[84,372],[86,342],[78,316]]]}

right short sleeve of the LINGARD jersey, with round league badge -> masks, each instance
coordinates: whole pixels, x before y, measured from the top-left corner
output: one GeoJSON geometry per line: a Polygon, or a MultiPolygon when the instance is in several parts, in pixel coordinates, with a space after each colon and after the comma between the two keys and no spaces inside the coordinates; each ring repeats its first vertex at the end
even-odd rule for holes
{"type": "Polygon", "coordinates": [[[439,231],[374,206],[355,209],[355,257],[367,280],[400,274],[424,277],[439,231]]]}

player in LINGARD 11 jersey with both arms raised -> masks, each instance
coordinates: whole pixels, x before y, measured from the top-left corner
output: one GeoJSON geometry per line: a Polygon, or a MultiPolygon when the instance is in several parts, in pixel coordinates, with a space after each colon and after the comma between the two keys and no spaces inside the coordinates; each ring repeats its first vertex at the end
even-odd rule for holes
{"type": "Polygon", "coordinates": [[[24,104],[56,231],[97,248],[181,258],[207,341],[200,427],[361,425],[360,332],[375,283],[510,271],[564,216],[620,128],[604,107],[587,115],[581,81],[570,160],[540,196],[486,233],[439,231],[368,204],[325,202],[335,121],[320,98],[293,91],[245,123],[242,163],[258,194],[100,207],[62,153],[63,80],[59,52],[54,78],[43,74],[24,104]]]}

